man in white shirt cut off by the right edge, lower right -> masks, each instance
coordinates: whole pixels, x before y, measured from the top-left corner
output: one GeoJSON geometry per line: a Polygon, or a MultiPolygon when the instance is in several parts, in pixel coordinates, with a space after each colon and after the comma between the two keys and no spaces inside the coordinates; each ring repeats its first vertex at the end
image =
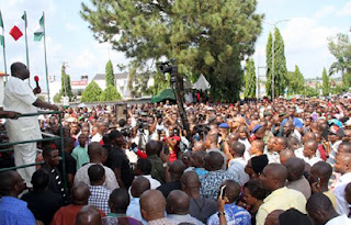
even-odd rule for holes
{"type": "Polygon", "coordinates": [[[338,153],[335,170],[341,173],[333,189],[337,198],[338,213],[348,215],[350,209],[344,199],[344,188],[351,182],[351,153],[338,153]]]}

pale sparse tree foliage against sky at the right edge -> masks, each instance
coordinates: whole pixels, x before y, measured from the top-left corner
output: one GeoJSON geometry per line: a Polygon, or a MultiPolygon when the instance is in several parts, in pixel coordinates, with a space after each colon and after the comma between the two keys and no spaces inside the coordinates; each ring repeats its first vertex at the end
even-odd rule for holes
{"type": "Polygon", "coordinates": [[[351,72],[351,43],[349,35],[339,33],[336,37],[328,38],[329,52],[336,57],[337,61],[331,64],[329,76],[341,71],[341,77],[351,72]]]}

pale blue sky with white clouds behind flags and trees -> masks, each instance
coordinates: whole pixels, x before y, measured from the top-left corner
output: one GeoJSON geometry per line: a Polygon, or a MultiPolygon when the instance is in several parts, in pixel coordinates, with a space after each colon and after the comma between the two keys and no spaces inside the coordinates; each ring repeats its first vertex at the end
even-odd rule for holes
{"type": "MultiPolygon", "coordinates": [[[[90,0],[82,0],[90,2],[90,0]]],[[[14,41],[9,35],[11,27],[26,10],[29,27],[30,69],[32,75],[45,80],[44,44],[33,41],[43,11],[46,23],[46,46],[49,75],[60,77],[63,63],[68,64],[67,74],[71,80],[88,75],[91,80],[95,74],[104,72],[109,59],[115,66],[127,64],[123,53],[113,50],[106,43],[99,44],[88,23],[80,16],[81,0],[0,0],[4,22],[8,70],[14,61],[25,63],[24,37],[14,41]]],[[[335,61],[328,50],[327,37],[337,33],[351,35],[351,0],[258,0],[258,13],[264,13],[263,31],[256,44],[252,56],[256,66],[265,66],[265,44],[273,24],[279,23],[285,42],[287,69],[295,65],[305,78],[321,77],[324,67],[335,61]]],[[[3,57],[0,54],[0,71],[3,71],[3,57]]],[[[264,69],[259,71],[264,76],[264,69]]],[[[338,75],[337,75],[338,76],[338,75]]],[[[337,77],[335,76],[335,77],[337,77]]]]}

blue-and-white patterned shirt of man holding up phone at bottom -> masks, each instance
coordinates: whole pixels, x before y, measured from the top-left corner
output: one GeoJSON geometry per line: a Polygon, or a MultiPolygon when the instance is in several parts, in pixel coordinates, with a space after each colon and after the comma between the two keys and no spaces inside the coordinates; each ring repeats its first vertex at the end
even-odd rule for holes
{"type": "MultiPolygon", "coordinates": [[[[227,224],[236,224],[236,225],[251,224],[250,213],[244,210],[242,207],[237,206],[235,203],[226,204],[224,206],[224,212],[225,212],[227,224]]],[[[207,225],[219,225],[219,217],[217,213],[210,216],[210,218],[207,220],[207,225]]]]}

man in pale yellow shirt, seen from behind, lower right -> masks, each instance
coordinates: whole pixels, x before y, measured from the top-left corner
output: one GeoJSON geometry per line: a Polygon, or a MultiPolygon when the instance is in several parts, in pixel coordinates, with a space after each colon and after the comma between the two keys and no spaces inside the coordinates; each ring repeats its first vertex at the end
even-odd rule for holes
{"type": "Polygon", "coordinates": [[[257,213],[257,225],[263,225],[268,214],[275,210],[285,211],[294,207],[306,214],[306,198],[301,192],[285,187],[286,177],[287,171],[283,165],[270,164],[264,167],[260,180],[262,187],[271,194],[263,200],[263,204],[257,213]]]}

